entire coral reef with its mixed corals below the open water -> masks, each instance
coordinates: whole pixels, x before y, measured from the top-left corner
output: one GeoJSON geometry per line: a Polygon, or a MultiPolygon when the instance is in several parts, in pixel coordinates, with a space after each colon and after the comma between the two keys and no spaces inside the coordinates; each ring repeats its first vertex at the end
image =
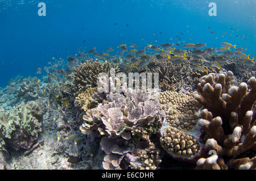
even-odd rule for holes
{"type": "Polygon", "coordinates": [[[254,58],[205,45],[82,48],[52,57],[43,79],[11,79],[0,88],[1,169],[256,169],[254,58]],[[147,73],[159,73],[157,89],[147,73]]]}

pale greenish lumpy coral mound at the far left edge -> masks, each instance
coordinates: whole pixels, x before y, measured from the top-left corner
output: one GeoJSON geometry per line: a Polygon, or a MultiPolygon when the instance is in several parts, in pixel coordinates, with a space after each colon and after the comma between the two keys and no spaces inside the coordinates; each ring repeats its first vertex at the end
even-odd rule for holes
{"type": "Polygon", "coordinates": [[[22,103],[9,112],[4,110],[0,112],[1,150],[6,150],[7,145],[15,150],[28,150],[35,143],[39,132],[42,131],[37,117],[42,116],[46,111],[45,108],[38,110],[35,104],[35,102],[22,103]]]}

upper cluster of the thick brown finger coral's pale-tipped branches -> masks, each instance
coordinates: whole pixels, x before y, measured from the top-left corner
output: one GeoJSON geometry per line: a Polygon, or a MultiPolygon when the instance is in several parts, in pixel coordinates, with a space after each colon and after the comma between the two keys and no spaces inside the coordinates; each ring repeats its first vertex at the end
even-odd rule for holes
{"type": "Polygon", "coordinates": [[[246,83],[241,83],[239,87],[231,87],[230,82],[233,73],[215,74],[204,76],[197,85],[197,92],[194,92],[195,99],[213,113],[213,116],[229,118],[232,111],[238,112],[241,118],[246,111],[251,110],[256,99],[255,78],[249,79],[248,84],[251,87],[247,91],[246,83]],[[215,82],[214,80],[217,79],[215,82]]]}

